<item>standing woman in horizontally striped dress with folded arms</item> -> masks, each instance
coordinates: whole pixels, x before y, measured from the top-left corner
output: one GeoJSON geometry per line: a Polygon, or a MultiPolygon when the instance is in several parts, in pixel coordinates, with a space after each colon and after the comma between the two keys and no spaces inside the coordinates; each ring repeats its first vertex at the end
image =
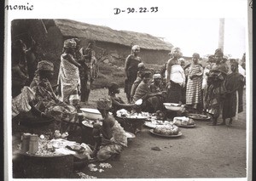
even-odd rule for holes
{"type": "Polygon", "coordinates": [[[191,106],[194,110],[198,110],[202,105],[201,84],[204,70],[198,63],[199,59],[199,54],[193,54],[192,64],[188,68],[186,105],[191,106]]]}

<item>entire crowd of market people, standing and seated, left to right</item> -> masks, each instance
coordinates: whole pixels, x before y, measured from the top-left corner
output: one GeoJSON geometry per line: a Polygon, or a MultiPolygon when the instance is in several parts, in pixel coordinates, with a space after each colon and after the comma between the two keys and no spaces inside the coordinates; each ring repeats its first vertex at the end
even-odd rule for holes
{"type": "MultiPolygon", "coordinates": [[[[97,73],[94,45],[89,42],[87,48],[80,48],[78,38],[64,41],[55,91],[49,82],[54,65],[47,60],[38,62],[32,82],[27,84],[26,46],[20,40],[16,42],[12,48],[13,118],[52,118],[62,132],[67,131],[69,123],[79,122],[76,105],[88,101],[90,86],[97,73]]],[[[114,82],[108,88],[108,99],[97,102],[103,120],[102,126],[94,125],[96,145],[92,157],[103,161],[119,156],[127,146],[123,122],[118,122],[116,116],[120,109],[154,113],[164,110],[165,102],[185,104],[199,113],[207,111],[212,115],[212,125],[217,125],[221,112],[222,124],[225,124],[227,118],[231,123],[232,117],[242,110],[244,76],[238,73],[236,59],[229,59],[230,67],[226,64],[221,49],[217,49],[209,57],[208,65],[203,67],[199,63],[199,54],[193,54],[192,62],[184,65],[181,49],[172,48],[172,58],[166,62],[164,71],[156,71],[154,75],[147,71],[139,53],[140,47],[135,45],[125,60],[128,103],[119,98],[119,85],[114,82]],[[142,104],[136,104],[138,100],[142,100],[142,104]]]]}

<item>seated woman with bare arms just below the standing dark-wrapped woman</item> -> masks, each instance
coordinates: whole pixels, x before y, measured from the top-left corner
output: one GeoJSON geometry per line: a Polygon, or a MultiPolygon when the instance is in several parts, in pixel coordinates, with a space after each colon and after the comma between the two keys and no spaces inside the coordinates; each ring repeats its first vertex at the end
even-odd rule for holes
{"type": "Polygon", "coordinates": [[[143,99],[142,110],[146,112],[156,112],[160,110],[160,98],[161,92],[159,93],[151,93],[150,89],[148,88],[148,82],[150,80],[151,73],[149,71],[145,71],[143,73],[143,81],[137,87],[137,90],[133,96],[133,101],[136,102],[138,99],[143,99]]]}

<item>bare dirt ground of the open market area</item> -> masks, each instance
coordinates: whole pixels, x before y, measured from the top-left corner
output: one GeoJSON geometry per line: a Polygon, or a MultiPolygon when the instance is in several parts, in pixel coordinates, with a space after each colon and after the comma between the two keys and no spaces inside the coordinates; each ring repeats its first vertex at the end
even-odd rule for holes
{"type": "MultiPolygon", "coordinates": [[[[107,94],[107,89],[92,90],[87,107],[95,108],[96,100],[107,94]]],[[[125,99],[123,90],[119,95],[125,99]]],[[[180,127],[183,135],[179,138],[158,137],[149,132],[150,128],[143,127],[129,141],[119,161],[105,161],[112,168],[103,168],[105,172],[99,173],[83,167],[78,172],[96,178],[245,178],[245,106],[231,127],[212,127],[207,123],[196,121],[195,127],[180,127]],[[155,146],[160,150],[151,150],[155,146]]]]}

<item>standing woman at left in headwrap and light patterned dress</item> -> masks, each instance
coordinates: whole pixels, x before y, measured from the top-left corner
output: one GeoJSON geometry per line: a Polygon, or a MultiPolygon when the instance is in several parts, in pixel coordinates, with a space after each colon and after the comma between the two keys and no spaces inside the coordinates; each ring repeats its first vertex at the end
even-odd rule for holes
{"type": "Polygon", "coordinates": [[[75,56],[76,42],[73,39],[64,41],[63,54],[58,76],[59,99],[70,105],[79,104],[79,67],[75,56]]]}

